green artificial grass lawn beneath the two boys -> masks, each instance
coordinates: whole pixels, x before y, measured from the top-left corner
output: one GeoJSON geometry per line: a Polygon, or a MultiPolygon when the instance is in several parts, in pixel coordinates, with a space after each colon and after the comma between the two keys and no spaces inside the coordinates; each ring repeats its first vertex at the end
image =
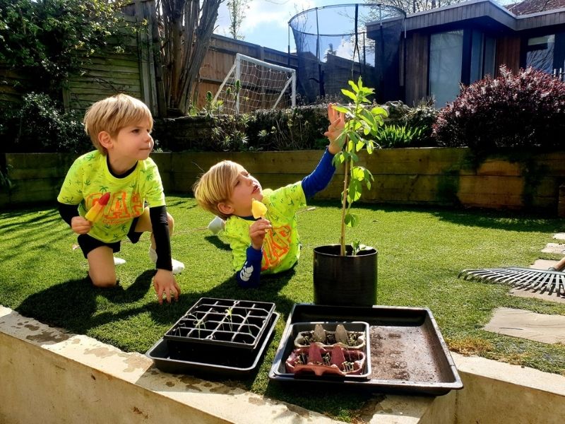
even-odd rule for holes
{"type": "MultiPolygon", "coordinates": [[[[227,382],[345,421],[363,414],[371,394],[292,390],[268,381],[267,374],[285,321],[295,302],[312,302],[312,249],[339,239],[337,201],[314,201],[299,213],[302,256],[289,273],[263,278],[261,288],[244,290],[233,278],[232,254],[220,234],[206,225],[213,216],[190,197],[169,196],[175,220],[173,257],[184,261],[177,276],[179,302],[158,305],[151,284],[148,235],[138,245],[122,244],[117,256],[120,285],[96,289],[85,281],[87,262],[76,236],[55,208],[0,213],[0,304],[67,331],[86,334],[124,351],[144,353],[201,297],[275,302],[281,317],[258,372],[227,382]]],[[[347,231],[379,250],[380,305],[429,307],[450,348],[545,372],[565,375],[565,346],[548,345],[483,331],[496,307],[565,314],[565,304],[507,295],[509,286],[457,278],[467,268],[529,266],[565,220],[516,213],[355,204],[361,225],[347,231]]]]}

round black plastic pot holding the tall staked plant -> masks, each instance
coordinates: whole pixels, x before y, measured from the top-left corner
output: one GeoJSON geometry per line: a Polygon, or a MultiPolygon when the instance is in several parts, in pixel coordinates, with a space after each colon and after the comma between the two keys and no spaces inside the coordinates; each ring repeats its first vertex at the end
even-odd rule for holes
{"type": "Polygon", "coordinates": [[[340,245],[314,248],[314,303],[371,306],[376,304],[377,254],[374,248],[340,256],[340,245]]]}

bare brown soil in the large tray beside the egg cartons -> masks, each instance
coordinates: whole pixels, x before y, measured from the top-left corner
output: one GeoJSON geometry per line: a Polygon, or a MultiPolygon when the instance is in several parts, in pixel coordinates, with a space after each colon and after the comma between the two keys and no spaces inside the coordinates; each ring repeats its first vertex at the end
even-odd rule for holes
{"type": "Polygon", "coordinates": [[[420,326],[369,326],[371,379],[436,382],[441,370],[420,326]]]}

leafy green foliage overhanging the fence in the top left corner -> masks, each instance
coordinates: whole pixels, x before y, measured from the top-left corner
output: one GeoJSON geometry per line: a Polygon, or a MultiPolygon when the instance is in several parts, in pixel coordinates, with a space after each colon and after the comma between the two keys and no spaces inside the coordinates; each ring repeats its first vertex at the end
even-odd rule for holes
{"type": "MultiPolygon", "coordinates": [[[[73,69],[118,35],[122,1],[0,0],[0,62],[59,88],[73,69]],[[78,50],[81,54],[75,54],[78,50]]],[[[36,89],[37,90],[37,89],[36,89]]]]}

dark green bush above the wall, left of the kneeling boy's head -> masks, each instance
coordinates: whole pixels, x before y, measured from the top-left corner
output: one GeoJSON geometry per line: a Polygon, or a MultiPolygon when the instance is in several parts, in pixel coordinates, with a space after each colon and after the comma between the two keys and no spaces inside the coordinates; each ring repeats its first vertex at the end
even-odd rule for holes
{"type": "Polygon", "coordinates": [[[82,112],[61,110],[61,105],[48,95],[37,93],[24,95],[19,109],[0,108],[0,136],[6,151],[85,153],[93,150],[84,131],[82,112]]]}

